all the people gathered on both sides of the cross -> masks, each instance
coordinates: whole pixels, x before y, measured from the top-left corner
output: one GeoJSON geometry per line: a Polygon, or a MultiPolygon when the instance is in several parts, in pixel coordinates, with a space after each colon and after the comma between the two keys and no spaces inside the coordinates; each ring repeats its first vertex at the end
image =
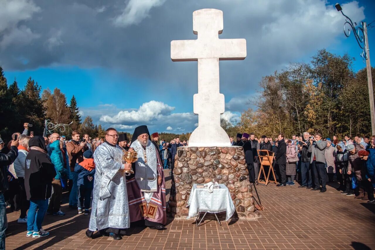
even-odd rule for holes
{"type": "MultiPolygon", "coordinates": [[[[6,146],[0,138],[0,249],[5,246],[6,208],[20,210],[18,223],[27,224],[27,237],[45,237],[49,235],[42,229],[45,214],[65,215],[60,210],[64,191],[69,192],[69,208],[78,214],[89,215],[92,206],[88,237],[98,230],[119,240],[135,220],[144,220],[152,229],[164,228],[162,169],[171,169],[173,184],[177,148],[188,146],[188,141],[178,137],[159,140],[159,134],[151,136],[146,126],[137,127],[130,142],[126,133],[117,134],[113,128],[107,129],[105,138],[94,139],[74,130],[67,140],[58,133],[28,135],[28,126],[24,123],[23,133],[14,133],[6,146]],[[138,160],[126,163],[126,151],[136,151],[138,160]],[[114,199],[116,192],[125,192],[126,199],[114,199]],[[113,209],[127,216],[114,216],[113,209]]],[[[282,133],[277,138],[264,135],[258,139],[254,133],[239,133],[236,140],[232,136],[229,140],[232,146],[243,147],[251,182],[262,177],[259,154],[264,151],[258,150],[268,150],[278,187],[299,181],[299,188],[324,193],[327,182],[337,181],[342,195],[375,204],[375,136],[330,139],[305,132],[291,139],[282,133]]],[[[173,191],[172,187],[171,194],[173,191]]]]}

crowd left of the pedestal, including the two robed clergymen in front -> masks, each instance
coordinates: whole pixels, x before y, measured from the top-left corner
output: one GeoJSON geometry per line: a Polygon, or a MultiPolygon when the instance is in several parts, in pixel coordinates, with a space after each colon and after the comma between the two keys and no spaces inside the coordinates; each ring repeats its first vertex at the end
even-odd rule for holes
{"type": "MultiPolygon", "coordinates": [[[[126,133],[118,135],[113,128],[107,129],[105,138],[95,139],[87,134],[81,136],[80,132],[74,130],[72,139],[68,141],[66,136],[60,136],[58,133],[52,133],[48,137],[28,135],[28,123],[25,123],[23,133],[14,133],[6,146],[0,138],[0,249],[5,248],[6,208],[11,211],[21,210],[18,223],[27,224],[26,237],[46,237],[49,232],[42,229],[45,215],[65,216],[60,210],[63,191],[69,192],[69,208],[77,210],[78,214],[89,215],[91,206],[92,210],[96,210],[91,213],[90,226],[86,233],[88,237],[98,229],[101,235],[120,240],[123,231],[117,229],[128,228],[130,220],[145,220],[146,226],[163,229],[166,201],[162,162],[159,157],[155,157],[159,156],[159,146],[154,147],[147,127],[144,127],[135,130],[135,140],[131,141],[132,148],[126,133]],[[139,148],[138,141],[142,138],[146,139],[139,148]],[[102,146],[99,147],[100,145],[102,146]],[[133,150],[138,150],[139,155],[141,150],[144,150],[144,155],[139,159],[144,157],[142,162],[147,164],[147,169],[151,169],[151,172],[136,171],[135,169],[142,165],[141,162],[136,162],[139,166],[135,165],[136,163],[124,162],[123,152],[133,150]],[[130,169],[134,169],[133,174],[122,174],[124,170],[130,169]],[[144,178],[142,174],[148,178],[144,178]],[[152,182],[150,176],[157,176],[156,182],[152,182]],[[98,178],[99,180],[96,180],[98,178]],[[121,181],[115,181],[116,178],[121,181]],[[149,189],[152,186],[150,183],[161,188],[149,189]],[[107,187],[110,195],[103,196],[103,187],[107,187]],[[111,195],[114,191],[125,192],[126,201],[114,199],[115,196],[111,195]],[[127,201],[126,192],[131,193],[132,197],[138,196],[137,199],[127,201]],[[147,201],[145,214],[132,214],[135,207],[144,205],[143,201],[147,201]],[[107,208],[111,210],[116,207],[115,213],[105,211],[107,208]],[[130,213],[129,207],[133,207],[130,213]],[[118,213],[118,208],[128,216],[113,216],[118,213]],[[98,218],[99,210],[107,213],[106,220],[103,219],[104,216],[98,218]],[[148,216],[153,219],[147,219],[148,216]]],[[[180,145],[179,141],[177,144],[180,145]]],[[[141,169],[144,169],[144,165],[141,169]]]]}

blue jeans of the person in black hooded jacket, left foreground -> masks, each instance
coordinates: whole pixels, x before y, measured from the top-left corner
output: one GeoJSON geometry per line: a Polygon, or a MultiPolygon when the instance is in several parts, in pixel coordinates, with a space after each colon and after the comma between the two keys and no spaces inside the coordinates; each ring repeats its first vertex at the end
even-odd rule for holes
{"type": "Polygon", "coordinates": [[[48,199],[30,200],[30,208],[27,212],[27,231],[40,231],[47,208],[48,199]]]}

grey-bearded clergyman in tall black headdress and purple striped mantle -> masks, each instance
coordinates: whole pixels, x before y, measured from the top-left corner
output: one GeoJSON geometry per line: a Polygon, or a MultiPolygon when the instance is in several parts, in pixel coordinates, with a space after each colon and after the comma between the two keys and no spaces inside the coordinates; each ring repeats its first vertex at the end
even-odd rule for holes
{"type": "Polygon", "coordinates": [[[147,126],[136,127],[130,145],[138,160],[134,174],[127,177],[130,222],[144,221],[150,229],[163,230],[166,224],[165,180],[158,147],[150,141],[147,126]]]}

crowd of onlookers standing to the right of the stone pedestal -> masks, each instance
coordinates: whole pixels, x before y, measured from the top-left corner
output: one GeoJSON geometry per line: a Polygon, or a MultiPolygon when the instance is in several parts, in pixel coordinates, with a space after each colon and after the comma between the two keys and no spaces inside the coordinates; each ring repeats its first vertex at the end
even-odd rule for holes
{"type": "Polygon", "coordinates": [[[291,139],[281,133],[273,140],[265,135],[258,139],[254,133],[239,133],[236,141],[232,136],[229,139],[231,145],[242,146],[245,152],[251,152],[253,163],[248,160],[247,163],[248,168],[251,165],[254,168],[254,177],[250,178],[255,183],[258,177],[262,177],[258,150],[269,150],[274,156],[278,187],[293,186],[296,180],[301,183],[299,188],[324,193],[327,182],[335,182],[336,176],[340,184],[337,190],[342,191],[342,195],[375,204],[375,136],[356,136],[352,140],[346,135],[343,139],[338,136],[330,139],[323,138],[320,133],[310,135],[304,132],[302,136],[293,135],[291,139]]]}

